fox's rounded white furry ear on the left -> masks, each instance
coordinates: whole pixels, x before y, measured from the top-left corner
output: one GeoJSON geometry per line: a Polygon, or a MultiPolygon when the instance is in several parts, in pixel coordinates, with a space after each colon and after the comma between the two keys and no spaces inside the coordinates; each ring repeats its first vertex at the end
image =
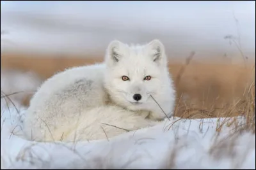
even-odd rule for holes
{"type": "Polygon", "coordinates": [[[119,62],[122,58],[122,48],[124,44],[118,40],[111,41],[108,45],[106,60],[109,63],[119,62]]]}

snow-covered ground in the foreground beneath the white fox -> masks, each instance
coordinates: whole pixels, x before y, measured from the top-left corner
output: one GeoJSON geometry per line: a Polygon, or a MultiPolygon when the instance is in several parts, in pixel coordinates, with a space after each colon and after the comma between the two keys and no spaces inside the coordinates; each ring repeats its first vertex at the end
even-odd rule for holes
{"type": "Polygon", "coordinates": [[[17,124],[22,127],[25,111],[21,108],[17,114],[13,107],[1,108],[1,169],[255,169],[255,134],[240,134],[234,140],[228,138],[232,127],[223,126],[214,139],[217,122],[224,118],[172,118],[109,140],[74,145],[37,143],[22,139],[19,133],[13,135],[17,124]],[[225,139],[223,147],[216,145],[221,139],[225,139]],[[231,145],[234,150],[230,151],[231,145]]]}

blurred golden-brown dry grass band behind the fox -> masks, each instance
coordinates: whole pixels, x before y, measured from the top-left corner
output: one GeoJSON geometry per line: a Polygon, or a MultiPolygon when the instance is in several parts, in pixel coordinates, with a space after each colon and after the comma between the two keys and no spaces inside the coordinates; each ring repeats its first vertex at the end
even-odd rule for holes
{"type": "MultiPolygon", "coordinates": [[[[241,115],[246,105],[244,90],[254,77],[253,64],[197,62],[191,53],[182,62],[170,60],[170,73],[177,90],[176,116],[186,118],[232,117],[241,115]],[[236,106],[234,106],[236,105],[236,106]],[[230,111],[229,108],[236,107],[230,111]]],[[[25,54],[2,54],[1,68],[35,71],[43,80],[67,67],[101,62],[102,57],[44,56],[29,57],[25,54]]],[[[28,96],[24,104],[29,104],[28,96]]]]}

